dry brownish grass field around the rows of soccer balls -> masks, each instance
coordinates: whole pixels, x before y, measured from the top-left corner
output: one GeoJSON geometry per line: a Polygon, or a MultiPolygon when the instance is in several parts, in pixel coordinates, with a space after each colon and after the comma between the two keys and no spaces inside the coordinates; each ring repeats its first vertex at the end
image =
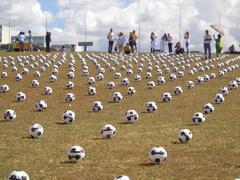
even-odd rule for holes
{"type": "MultiPolygon", "coordinates": [[[[32,53],[34,54],[34,53],[32,53]]],[[[0,54],[3,58],[9,54],[0,54]]],[[[21,54],[11,54],[16,57],[21,54]]],[[[29,55],[26,53],[25,55],[29,55]]],[[[34,54],[37,55],[37,54],[34,54]]],[[[99,54],[98,54],[99,55],[99,54]]],[[[139,55],[142,56],[143,54],[139,55]]],[[[82,54],[85,57],[84,54],[82,54]]],[[[24,170],[33,180],[105,180],[114,179],[117,175],[128,175],[133,180],[158,180],[158,179],[234,179],[240,176],[240,91],[230,90],[223,104],[214,104],[213,98],[218,89],[227,86],[229,81],[240,77],[239,69],[225,74],[223,77],[196,85],[193,89],[186,89],[188,80],[195,81],[197,76],[218,73],[226,68],[215,68],[205,72],[197,72],[190,76],[188,69],[184,70],[185,76],[176,81],[169,80],[169,74],[163,72],[166,83],[154,89],[147,89],[145,72],[148,62],[144,62],[144,70],[141,73],[142,80],[135,82],[133,77],[138,64],[133,62],[133,75],[126,76],[116,66],[116,71],[121,72],[122,77],[128,77],[129,86],[136,88],[136,94],[127,95],[127,87],[121,85],[119,79],[115,79],[113,73],[106,69],[103,81],[97,81],[93,86],[97,88],[94,96],[87,94],[87,77],[82,76],[82,66],[75,54],[76,64],[75,87],[72,90],[65,88],[68,81],[67,61],[59,67],[58,80],[49,82],[53,63],[42,73],[40,78],[33,76],[34,71],[42,66],[29,71],[21,81],[15,81],[16,72],[11,72],[11,66],[7,69],[0,67],[0,72],[6,71],[8,77],[0,78],[0,85],[8,84],[10,91],[0,93],[0,113],[10,108],[17,113],[14,121],[6,122],[1,115],[0,120],[0,179],[6,179],[13,170],[24,170]],[[31,81],[38,79],[40,86],[31,87],[31,81]],[[107,89],[106,83],[114,81],[116,87],[107,89]],[[50,96],[43,94],[43,88],[53,88],[50,96]],[[169,103],[161,100],[162,93],[168,91],[173,94],[176,86],[183,88],[183,94],[174,96],[169,103]],[[18,91],[26,93],[25,102],[16,102],[18,91]],[[123,95],[120,103],[112,103],[112,93],[119,91],[123,95]],[[76,100],[67,103],[64,95],[73,92],[76,100]],[[46,111],[35,110],[36,101],[43,99],[47,102],[46,111]],[[95,113],[92,111],[92,103],[100,100],[104,109],[95,113]],[[145,104],[155,101],[158,110],[147,113],[145,104]],[[192,116],[195,112],[201,112],[205,103],[213,103],[215,112],[206,115],[206,122],[196,126],[192,124],[192,116]],[[124,123],[124,114],[128,109],[135,109],[139,113],[139,120],[134,124],[124,123]],[[76,113],[76,121],[73,124],[61,124],[61,116],[65,110],[73,110],[76,113]],[[28,128],[33,123],[39,123],[44,128],[44,134],[39,139],[31,139],[28,128]],[[117,135],[113,139],[103,139],[100,129],[104,124],[112,124],[117,129],[117,135]],[[178,143],[177,134],[181,129],[190,129],[193,138],[188,143],[178,143]],[[73,145],[80,145],[86,151],[85,158],[78,163],[69,163],[67,150],[73,145]],[[153,146],[162,146],[168,153],[168,160],[161,165],[151,165],[148,160],[148,152],[153,146]]],[[[217,65],[229,58],[215,61],[210,64],[217,65]]],[[[61,54],[57,60],[60,60],[61,54]]],[[[144,58],[144,57],[143,57],[144,58]]],[[[51,59],[51,58],[49,58],[51,59]]],[[[138,58],[138,60],[140,57],[138,58]]],[[[146,59],[146,58],[145,58],[146,59]]],[[[109,59],[108,59],[109,60],[109,59]]],[[[127,60],[127,58],[125,58],[127,60]]],[[[152,61],[153,58],[150,57],[152,61]]],[[[99,60],[98,60],[99,61],[99,60]]],[[[96,76],[97,69],[90,61],[86,61],[90,76],[96,76]]],[[[100,61],[99,61],[100,63],[100,61]]],[[[110,62],[111,63],[111,62],[110,62]]],[[[191,63],[194,67],[195,61],[191,63]]],[[[100,63],[104,67],[103,63],[100,63]]],[[[169,63],[166,62],[167,66],[169,63]]],[[[234,62],[230,65],[238,64],[234,62]]],[[[175,63],[175,65],[177,65],[175,63]]],[[[18,63],[16,65],[18,67],[18,63]]],[[[111,66],[114,66],[111,63],[111,66]]],[[[156,82],[157,75],[154,72],[150,80],[156,82]]],[[[162,68],[162,64],[159,65],[162,68]]],[[[204,65],[205,66],[205,65],[204,65]]],[[[25,64],[28,68],[28,65],[25,64]]],[[[171,68],[172,69],[172,68],[171,68]]],[[[18,68],[18,73],[21,73],[18,68]]],[[[172,70],[171,70],[172,73],[172,70]]]]}

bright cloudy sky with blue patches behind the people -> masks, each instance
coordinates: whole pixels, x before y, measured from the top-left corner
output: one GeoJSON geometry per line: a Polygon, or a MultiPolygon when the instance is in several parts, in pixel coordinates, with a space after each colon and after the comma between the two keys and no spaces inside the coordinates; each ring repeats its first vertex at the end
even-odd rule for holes
{"type": "Polygon", "coordinates": [[[141,51],[149,51],[151,32],[158,37],[170,33],[174,44],[179,40],[181,8],[181,36],[190,32],[191,50],[203,50],[206,29],[217,34],[210,25],[219,23],[219,15],[227,49],[240,44],[239,4],[240,0],[1,0],[0,24],[8,25],[10,17],[12,35],[29,29],[33,35],[45,35],[47,17],[53,44],[76,44],[85,40],[86,17],[87,40],[94,44],[91,50],[105,51],[107,33],[113,28],[115,34],[122,31],[126,36],[136,30],[141,51]]]}

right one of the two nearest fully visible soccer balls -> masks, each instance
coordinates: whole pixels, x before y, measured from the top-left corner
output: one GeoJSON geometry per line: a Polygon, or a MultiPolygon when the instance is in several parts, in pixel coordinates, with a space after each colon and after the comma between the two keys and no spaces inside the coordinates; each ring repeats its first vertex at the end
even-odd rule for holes
{"type": "Polygon", "coordinates": [[[167,160],[167,152],[163,147],[153,147],[149,152],[149,160],[152,164],[161,164],[167,160]]]}

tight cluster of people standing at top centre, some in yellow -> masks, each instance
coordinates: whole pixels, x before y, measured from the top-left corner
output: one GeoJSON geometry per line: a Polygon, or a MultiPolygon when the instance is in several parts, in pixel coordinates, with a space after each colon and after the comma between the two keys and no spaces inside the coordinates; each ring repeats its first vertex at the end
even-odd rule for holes
{"type": "Polygon", "coordinates": [[[115,36],[113,29],[111,28],[107,35],[108,52],[112,53],[114,49],[114,51],[120,53],[134,53],[137,51],[137,38],[135,30],[129,33],[129,37],[127,39],[123,32],[120,32],[117,36],[115,36]]]}

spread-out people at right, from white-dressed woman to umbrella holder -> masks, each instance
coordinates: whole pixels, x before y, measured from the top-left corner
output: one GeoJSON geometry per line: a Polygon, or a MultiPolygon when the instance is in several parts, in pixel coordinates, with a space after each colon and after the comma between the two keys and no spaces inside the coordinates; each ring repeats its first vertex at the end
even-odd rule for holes
{"type": "MultiPolygon", "coordinates": [[[[213,35],[213,39],[215,40],[215,47],[216,47],[216,56],[218,57],[219,54],[222,51],[222,40],[221,40],[221,34],[218,34],[217,37],[213,35]]],[[[173,47],[173,38],[169,33],[165,33],[162,38],[160,39],[160,42],[158,40],[158,37],[155,35],[154,32],[150,35],[151,40],[151,53],[154,53],[155,51],[165,52],[165,46],[168,45],[168,52],[171,54],[173,53],[172,47],[173,47]]],[[[186,52],[189,54],[189,46],[190,46],[190,33],[188,31],[184,34],[184,41],[185,41],[185,48],[186,52]]],[[[203,46],[204,46],[204,54],[205,59],[211,59],[211,42],[212,42],[212,36],[209,34],[209,31],[205,31],[205,35],[203,37],[203,46]]],[[[181,42],[178,41],[175,45],[175,53],[176,54],[183,54],[185,52],[184,48],[181,45],[181,42]]]]}

